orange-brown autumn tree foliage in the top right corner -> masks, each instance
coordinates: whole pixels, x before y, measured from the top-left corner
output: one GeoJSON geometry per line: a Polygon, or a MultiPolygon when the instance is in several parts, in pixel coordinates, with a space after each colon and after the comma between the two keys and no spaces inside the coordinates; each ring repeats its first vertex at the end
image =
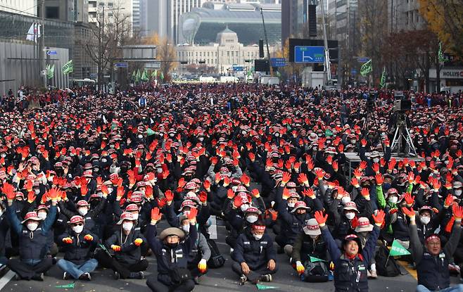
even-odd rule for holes
{"type": "Polygon", "coordinates": [[[418,0],[419,13],[446,51],[463,57],[463,0],[418,0]]]}

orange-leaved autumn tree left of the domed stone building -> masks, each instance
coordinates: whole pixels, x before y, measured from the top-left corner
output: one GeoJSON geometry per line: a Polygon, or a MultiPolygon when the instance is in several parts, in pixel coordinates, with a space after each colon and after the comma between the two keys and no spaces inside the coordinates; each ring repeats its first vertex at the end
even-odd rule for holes
{"type": "Polygon", "coordinates": [[[155,33],[146,37],[144,44],[156,45],[156,60],[160,61],[160,72],[168,79],[170,72],[177,67],[177,54],[172,40],[155,33]]]}

